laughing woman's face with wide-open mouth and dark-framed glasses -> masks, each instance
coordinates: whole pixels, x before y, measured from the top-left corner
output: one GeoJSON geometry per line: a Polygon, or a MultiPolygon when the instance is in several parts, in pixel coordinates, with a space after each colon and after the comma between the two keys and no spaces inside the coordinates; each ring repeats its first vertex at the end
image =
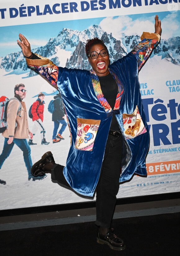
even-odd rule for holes
{"type": "MultiPolygon", "coordinates": [[[[100,53],[100,51],[104,49],[104,46],[101,44],[93,45],[90,49],[90,53],[92,51],[96,51],[100,53]]],[[[110,64],[109,55],[102,57],[100,54],[98,55],[97,59],[92,59],[88,57],[89,63],[92,66],[92,69],[96,72],[98,76],[106,76],[109,74],[108,66],[110,64]]]]}

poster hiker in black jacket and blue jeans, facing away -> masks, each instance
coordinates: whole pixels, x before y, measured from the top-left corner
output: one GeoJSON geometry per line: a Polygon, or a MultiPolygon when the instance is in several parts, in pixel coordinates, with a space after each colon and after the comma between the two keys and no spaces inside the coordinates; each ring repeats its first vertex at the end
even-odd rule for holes
{"type": "Polygon", "coordinates": [[[55,102],[54,102],[55,111],[52,113],[52,121],[54,122],[52,143],[56,143],[56,142],[60,142],[61,140],[64,140],[64,138],[62,137],[62,133],[65,130],[65,127],[67,126],[67,123],[64,120],[65,110],[62,104],[61,94],[60,93],[56,94],[54,96],[54,99],[55,99],[55,102]],[[57,134],[57,130],[60,124],[62,126],[57,134]]]}

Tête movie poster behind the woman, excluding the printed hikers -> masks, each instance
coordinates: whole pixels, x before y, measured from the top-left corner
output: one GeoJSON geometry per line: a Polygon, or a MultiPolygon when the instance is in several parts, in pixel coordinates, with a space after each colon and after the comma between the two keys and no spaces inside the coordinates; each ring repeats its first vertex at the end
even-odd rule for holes
{"type": "MultiPolygon", "coordinates": [[[[84,48],[86,40],[98,37],[111,53],[111,62],[127,55],[140,41],[143,31],[154,32],[154,17],[162,23],[159,45],[139,72],[140,90],[146,121],[150,129],[150,147],[146,157],[147,176],[136,174],[119,184],[117,198],[178,192],[180,184],[180,3],[160,0],[91,0],[91,1],[2,1],[0,7],[0,81],[1,95],[14,97],[14,86],[25,84],[27,111],[43,92],[44,120],[48,145],[41,145],[36,132],[31,145],[33,164],[52,151],[56,163],[65,165],[70,147],[68,126],[64,140],[52,143],[54,122],[47,107],[59,92],[29,69],[17,39],[23,34],[31,50],[51,59],[56,65],[90,69],[84,48]]],[[[67,118],[65,116],[65,121],[67,118]]],[[[29,129],[33,121],[28,118],[29,129]]],[[[61,128],[61,124],[59,129],[61,128]]],[[[0,135],[0,154],[4,137],[0,135]]],[[[0,210],[32,206],[94,201],[52,183],[51,175],[43,180],[28,180],[22,151],[14,145],[0,169],[0,210]]]]}

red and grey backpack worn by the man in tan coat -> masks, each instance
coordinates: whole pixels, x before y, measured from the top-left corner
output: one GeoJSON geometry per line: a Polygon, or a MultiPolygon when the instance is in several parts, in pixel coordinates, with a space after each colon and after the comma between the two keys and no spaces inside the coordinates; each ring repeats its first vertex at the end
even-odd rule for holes
{"type": "MultiPolygon", "coordinates": [[[[11,98],[10,100],[17,100],[17,98],[11,98]]],[[[7,105],[10,102],[10,100],[6,96],[0,97],[0,133],[4,132],[7,129],[7,105]]],[[[19,101],[19,108],[17,113],[20,111],[21,113],[21,103],[19,101]]],[[[21,115],[18,115],[20,116],[21,115]]],[[[17,125],[16,125],[17,126],[17,125]]]]}

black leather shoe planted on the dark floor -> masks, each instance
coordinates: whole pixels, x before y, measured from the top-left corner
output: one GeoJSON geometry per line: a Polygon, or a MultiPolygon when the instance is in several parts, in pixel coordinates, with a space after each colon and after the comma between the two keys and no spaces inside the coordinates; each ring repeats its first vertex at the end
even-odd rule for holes
{"type": "Polygon", "coordinates": [[[106,236],[98,233],[97,243],[108,244],[111,249],[118,251],[124,250],[126,248],[123,240],[114,234],[113,229],[107,232],[106,236]]]}

